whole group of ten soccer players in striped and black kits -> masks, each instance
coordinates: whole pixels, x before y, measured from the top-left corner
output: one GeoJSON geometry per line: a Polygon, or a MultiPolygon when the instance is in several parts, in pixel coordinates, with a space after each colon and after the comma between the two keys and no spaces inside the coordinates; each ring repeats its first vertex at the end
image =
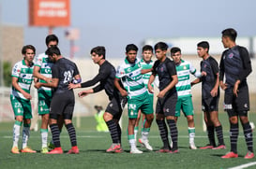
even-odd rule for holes
{"type": "Polygon", "coordinates": [[[62,154],[60,133],[65,124],[71,148],[68,154],[78,154],[76,131],[72,124],[75,105],[73,89],[96,87],[79,92],[80,97],[90,93],[105,90],[109,104],[103,114],[112,138],[112,145],[106,152],[123,152],[119,120],[123,108],[128,105],[128,143],[130,153],[140,154],[137,148],[138,123],[143,114],[142,137],[139,143],[148,150],[153,150],[149,144],[148,135],[154,120],[154,88],[158,87],[158,101],[156,105],[156,121],[162,141],[162,148],[158,153],[178,153],[178,130],[176,122],[180,110],[188,120],[189,148],[197,149],[194,143],[195,124],[192,105],[191,87],[202,82],[202,110],[207,127],[209,144],[202,149],[226,148],[222,125],[218,120],[219,86],[225,92],[224,109],[230,120],[231,151],[221,156],[223,159],[237,158],[238,120],[241,121],[248,153],[245,159],[254,157],[252,129],[248,121],[249,98],[247,77],[252,71],[248,50],[235,44],[237,33],[233,28],[222,31],[222,44],[226,49],[218,62],[209,55],[209,43],[202,41],[197,44],[197,53],[201,62],[201,70],[182,59],[181,49],[170,49],[171,58],[167,57],[168,45],[158,42],[154,47],[143,46],[143,59],[137,59],[138,47],[128,44],[126,58],[117,69],[105,59],[106,49],[102,46],[91,49],[94,63],[99,65],[98,75],[93,79],[82,82],[75,63],[61,55],[58,49],[56,35],[46,37],[47,50],[36,55],[32,45],[22,49],[23,61],[16,63],[12,69],[11,106],[15,115],[13,126],[12,153],[37,151],[27,147],[30,133],[32,111],[30,87],[34,80],[38,89],[38,114],[41,115],[41,153],[62,154]],[[153,62],[155,52],[157,61],[153,62]],[[189,74],[196,77],[190,82],[189,74]],[[225,79],[225,81],[223,81],[225,79]],[[23,124],[23,145],[18,148],[20,130],[23,124]],[[52,140],[48,144],[48,126],[52,133],[52,140]],[[169,130],[168,130],[169,128],[169,130]],[[168,134],[170,131],[170,134],[168,134]],[[215,134],[218,143],[215,141],[215,134]],[[171,141],[169,136],[171,136],[171,141]],[[51,148],[51,150],[50,150],[51,148]]]}

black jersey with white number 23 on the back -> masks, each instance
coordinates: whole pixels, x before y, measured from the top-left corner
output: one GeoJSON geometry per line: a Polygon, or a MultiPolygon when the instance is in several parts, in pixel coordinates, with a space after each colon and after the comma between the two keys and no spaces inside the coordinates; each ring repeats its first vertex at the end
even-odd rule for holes
{"type": "Polygon", "coordinates": [[[68,90],[68,84],[73,77],[79,75],[77,65],[66,58],[59,59],[52,67],[53,78],[58,78],[59,83],[54,93],[73,92],[68,90]]]}

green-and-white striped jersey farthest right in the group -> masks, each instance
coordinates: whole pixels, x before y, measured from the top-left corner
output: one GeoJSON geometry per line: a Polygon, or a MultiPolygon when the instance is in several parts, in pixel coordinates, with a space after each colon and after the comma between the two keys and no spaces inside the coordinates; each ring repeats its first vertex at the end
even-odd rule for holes
{"type": "Polygon", "coordinates": [[[189,74],[192,74],[195,77],[201,77],[201,73],[188,61],[181,60],[181,63],[175,65],[178,77],[178,83],[175,87],[178,93],[178,98],[191,96],[189,74]]]}

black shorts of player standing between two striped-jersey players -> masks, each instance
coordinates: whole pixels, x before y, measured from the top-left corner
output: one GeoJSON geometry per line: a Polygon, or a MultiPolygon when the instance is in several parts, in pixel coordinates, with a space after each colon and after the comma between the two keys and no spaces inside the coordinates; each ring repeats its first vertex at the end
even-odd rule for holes
{"type": "Polygon", "coordinates": [[[156,114],[164,114],[165,117],[175,116],[177,99],[177,92],[167,94],[163,98],[158,98],[156,114]]]}

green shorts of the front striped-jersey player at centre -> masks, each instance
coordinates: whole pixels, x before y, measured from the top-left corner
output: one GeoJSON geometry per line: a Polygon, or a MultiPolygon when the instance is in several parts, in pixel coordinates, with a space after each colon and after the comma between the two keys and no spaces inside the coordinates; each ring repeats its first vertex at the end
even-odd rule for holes
{"type": "Polygon", "coordinates": [[[128,99],[128,118],[137,119],[140,109],[145,115],[154,113],[153,103],[151,102],[150,96],[147,92],[144,92],[138,98],[128,99]]]}

